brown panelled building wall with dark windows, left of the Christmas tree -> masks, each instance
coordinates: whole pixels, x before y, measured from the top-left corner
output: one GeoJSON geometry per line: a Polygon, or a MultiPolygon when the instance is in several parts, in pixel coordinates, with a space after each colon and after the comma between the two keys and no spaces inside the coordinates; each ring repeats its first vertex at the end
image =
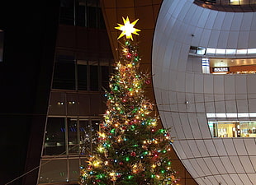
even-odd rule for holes
{"type": "Polygon", "coordinates": [[[60,3],[39,184],[78,184],[80,166],[96,144],[113,63],[102,21],[97,1],[60,3]]]}

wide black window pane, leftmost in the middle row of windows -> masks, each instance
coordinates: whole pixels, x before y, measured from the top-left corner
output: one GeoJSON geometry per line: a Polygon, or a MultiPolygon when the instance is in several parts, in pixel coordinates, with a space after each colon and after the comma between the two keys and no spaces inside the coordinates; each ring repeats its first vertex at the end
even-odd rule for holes
{"type": "Polygon", "coordinates": [[[75,65],[73,56],[57,56],[55,60],[53,89],[75,89],[75,65]]]}

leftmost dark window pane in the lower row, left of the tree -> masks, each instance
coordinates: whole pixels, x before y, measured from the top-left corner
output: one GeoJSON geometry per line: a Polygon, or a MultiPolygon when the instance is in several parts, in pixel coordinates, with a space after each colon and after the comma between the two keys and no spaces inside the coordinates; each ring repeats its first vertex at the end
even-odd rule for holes
{"type": "Polygon", "coordinates": [[[48,118],[44,155],[65,154],[65,131],[64,118],[48,118]]]}

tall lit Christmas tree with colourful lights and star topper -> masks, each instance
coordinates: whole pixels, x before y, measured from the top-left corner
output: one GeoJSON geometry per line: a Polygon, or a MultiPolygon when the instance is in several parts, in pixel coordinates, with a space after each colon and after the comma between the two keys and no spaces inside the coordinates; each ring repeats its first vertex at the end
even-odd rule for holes
{"type": "MultiPolygon", "coordinates": [[[[153,104],[145,97],[149,74],[139,72],[140,54],[132,34],[139,35],[134,21],[123,18],[122,55],[106,92],[107,111],[97,134],[98,145],[81,167],[84,185],[164,185],[178,182],[172,169],[172,138],[166,129],[158,129],[158,119],[151,116],[153,104]]],[[[118,39],[119,39],[118,38],[118,39]]]]}

